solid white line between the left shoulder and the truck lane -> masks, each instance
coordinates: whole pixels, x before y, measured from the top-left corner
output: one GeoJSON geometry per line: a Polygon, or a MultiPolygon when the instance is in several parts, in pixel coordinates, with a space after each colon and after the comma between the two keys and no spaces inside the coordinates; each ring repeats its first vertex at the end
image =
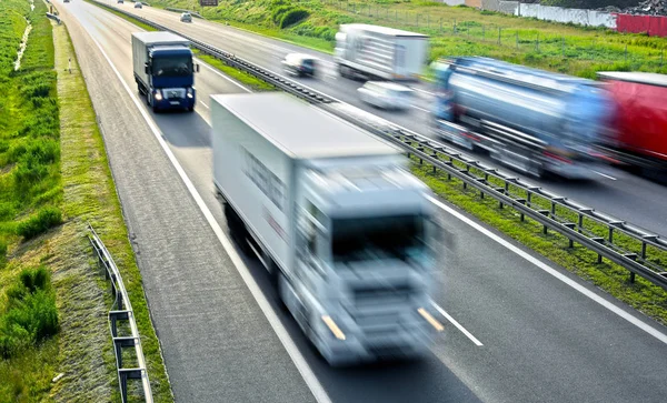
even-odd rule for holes
{"type": "Polygon", "coordinates": [[[116,75],[118,77],[118,80],[120,80],[122,87],[126,89],[126,91],[128,92],[128,94],[130,95],[130,98],[132,99],[135,104],[137,105],[137,109],[139,110],[139,112],[143,117],[143,119],[146,120],[146,123],[148,124],[151,132],[153,133],[153,135],[156,137],[158,142],[160,143],[160,147],[162,147],[162,150],[167,154],[167,158],[169,158],[169,161],[171,162],[171,164],[178,172],[179,177],[186,184],[186,188],[188,188],[190,195],[192,197],[192,199],[195,199],[195,202],[199,206],[199,210],[201,210],[207,222],[213,230],[213,233],[218,238],[218,241],[220,241],[220,244],[222,244],[222,248],[225,248],[225,251],[229,255],[229,259],[232,261],[233,265],[237,268],[237,271],[241,275],[241,279],[243,279],[246,286],[248,288],[248,290],[250,291],[250,293],[257,301],[257,304],[261,309],[261,312],[267,318],[267,321],[271,325],[271,329],[273,329],[273,332],[276,332],[276,335],[280,340],[280,343],[282,343],[282,346],[285,347],[285,350],[289,354],[290,359],[295,363],[295,366],[301,374],[301,377],[308,385],[308,389],[310,389],[310,392],[312,393],[312,395],[315,396],[317,402],[331,403],[329,395],[327,394],[327,392],[320,384],[319,380],[317,379],[317,376],[315,375],[315,373],[312,372],[312,370],[306,362],[306,359],[303,357],[303,355],[301,355],[301,352],[299,351],[299,349],[297,347],[295,342],[290,339],[289,333],[287,332],[287,329],[285,329],[282,323],[280,323],[280,319],[278,319],[278,315],[276,315],[276,312],[273,312],[273,310],[271,309],[269,301],[267,300],[265,294],[261,292],[259,285],[257,285],[257,282],[255,282],[255,279],[252,279],[250,271],[248,270],[248,268],[246,266],[246,264],[243,263],[243,261],[241,260],[241,258],[239,256],[237,251],[233,249],[231,241],[229,241],[227,235],[225,235],[225,232],[222,232],[220,224],[218,224],[218,222],[216,221],[216,218],[213,216],[213,214],[211,213],[209,208],[203,202],[203,199],[201,199],[201,195],[199,195],[199,192],[195,188],[195,184],[192,184],[192,181],[190,181],[190,178],[188,178],[186,171],[182,169],[182,167],[180,165],[180,163],[178,162],[178,160],[171,152],[171,149],[169,149],[169,145],[162,138],[162,133],[160,132],[160,130],[158,129],[156,123],[152,121],[152,119],[150,118],[148,112],[142,108],[141,102],[139,102],[139,100],[137,99],[135,93],[130,90],[128,84],[125,82],[125,80],[122,79],[122,75],[120,74],[118,69],[116,69],[116,66],[113,66],[113,63],[111,62],[111,59],[109,59],[109,57],[107,56],[107,52],[104,52],[104,50],[102,49],[100,43],[92,37],[90,37],[90,39],[97,44],[98,49],[100,50],[100,52],[102,53],[104,59],[107,59],[107,62],[109,63],[109,66],[111,67],[111,69],[116,73],[116,75]]]}

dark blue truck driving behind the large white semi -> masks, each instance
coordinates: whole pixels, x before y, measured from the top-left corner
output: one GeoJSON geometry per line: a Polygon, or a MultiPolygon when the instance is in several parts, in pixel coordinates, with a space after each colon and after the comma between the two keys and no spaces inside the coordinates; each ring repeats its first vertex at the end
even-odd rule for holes
{"type": "Polygon", "coordinates": [[[190,41],[171,32],[133,32],[132,62],[139,92],[153,111],[187,109],[196,104],[190,41]]]}

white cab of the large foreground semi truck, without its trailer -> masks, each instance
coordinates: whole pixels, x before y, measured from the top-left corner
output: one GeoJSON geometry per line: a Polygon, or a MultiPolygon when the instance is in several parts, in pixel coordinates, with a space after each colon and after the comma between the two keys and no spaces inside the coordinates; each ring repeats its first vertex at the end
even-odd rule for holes
{"type": "Polygon", "coordinates": [[[420,356],[439,330],[428,189],[398,165],[329,164],[299,175],[297,262],[280,295],[331,365],[420,356]]]}

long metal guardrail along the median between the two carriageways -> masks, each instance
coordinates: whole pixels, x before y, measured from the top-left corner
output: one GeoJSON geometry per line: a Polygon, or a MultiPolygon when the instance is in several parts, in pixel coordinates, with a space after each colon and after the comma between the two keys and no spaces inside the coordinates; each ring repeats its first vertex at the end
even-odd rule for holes
{"type": "MultiPolygon", "coordinates": [[[[115,10],[118,9],[115,8],[115,10]]],[[[638,274],[667,290],[667,261],[660,261],[659,258],[651,260],[651,256],[648,255],[649,246],[660,253],[667,254],[667,240],[658,234],[650,233],[624,220],[598,212],[568,198],[551,193],[540,187],[535,187],[496,168],[487,167],[478,160],[430,138],[401,128],[381,118],[370,115],[317,90],[312,90],[250,63],[232,53],[217,49],[208,43],[136,14],[122,10],[118,11],[156,29],[177,33],[190,40],[192,47],[201,52],[220,59],[228,66],[246,71],[308,102],[318,104],[320,108],[387,139],[405,150],[408,155],[418,157],[420,163],[426,161],[434,167],[434,170],[439,169],[447,172],[448,179],[452,177],[459,179],[464,183],[464,189],[471,187],[479,191],[480,197],[490,195],[498,200],[500,208],[505,205],[514,208],[519,212],[521,221],[528,216],[542,224],[545,233],[548,230],[560,233],[569,239],[570,248],[574,246],[574,242],[577,242],[596,252],[598,254],[598,262],[601,262],[603,258],[606,258],[621,265],[630,272],[630,281],[634,281],[635,274],[638,274]],[[548,205],[544,205],[545,203],[539,202],[537,199],[545,200],[548,205]],[[565,212],[559,212],[559,210],[565,210],[565,212]],[[591,221],[594,225],[604,228],[606,236],[600,236],[588,229],[585,225],[587,221],[591,221]],[[618,235],[628,236],[636,242],[637,248],[623,246],[618,242],[615,243],[615,234],[617,238],[618,235]]]]}

